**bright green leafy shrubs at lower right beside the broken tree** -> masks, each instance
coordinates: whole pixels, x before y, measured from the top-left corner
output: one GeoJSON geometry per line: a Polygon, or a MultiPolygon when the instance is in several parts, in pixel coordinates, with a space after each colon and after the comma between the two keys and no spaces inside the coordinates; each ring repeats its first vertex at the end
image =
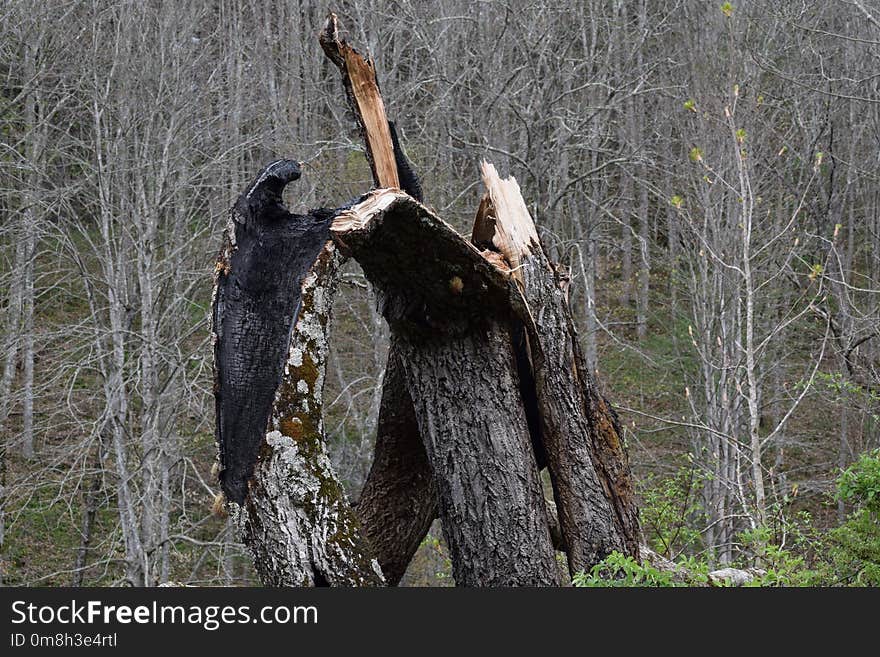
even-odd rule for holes
{"type": "MultiPolygon", "coordinates": [[[[702,551],[705,525],[698,492],[704,477],[689,459],[670,477],[647,478],[641,487],[641,518],[649,546],[672,558],[661,570],[618,552],[575,575],[577,587],[705,586],[712,568],[702,551]]],[[[740,556],[731,564],[749,569],[746,586],[880,586],[880,450],[863,454],[837,481],[836,497],[854,507],[830,532],[816,529],[807,511],[778,510],[774,526],[738,537],[740,556]]],[[[718,584],[715,584],[718,585],[718,584]]],[[[723,586],[723,584],[721,584],[723,586]]]]}

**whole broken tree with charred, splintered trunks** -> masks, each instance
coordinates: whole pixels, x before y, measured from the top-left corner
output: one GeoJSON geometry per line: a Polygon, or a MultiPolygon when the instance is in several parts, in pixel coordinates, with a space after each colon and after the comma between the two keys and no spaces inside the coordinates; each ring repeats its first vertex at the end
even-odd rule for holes
{"type": "Polygon", "coordinates": [[[281,189],[299,169],[280,161],[236,206],[242,239],[233,232],[227,243],[215,295],[218,442],[221,483],[261,579],[396,584],[438,512],[459,585],[560,584],[560,543],[572,572],[614,549],[637,556],[619,426],[583,365],[515,181],[484,166],[489,193],[473,243],[464,239],[418,202],[372,64],[339,38],[332,14],[320,38],[384,189],[298,217],[281,189]],[[313,239],[328,225],[338,252],[313,239]],[[321,415],[343,256],[361,264],[392,334],[374,460],[354,509],[327,459],[321,415]],[[268,332],[253,329],[261,321],[268,332]],[[552,540],[545,461],[561,527],[552,540]]]}

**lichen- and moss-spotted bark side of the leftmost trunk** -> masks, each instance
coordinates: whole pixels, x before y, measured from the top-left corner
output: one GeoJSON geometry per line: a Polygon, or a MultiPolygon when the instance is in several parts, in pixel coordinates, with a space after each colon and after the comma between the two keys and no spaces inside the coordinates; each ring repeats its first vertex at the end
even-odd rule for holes
{"type": "Polygon", "coordinates": [[[267,586],[378,586],[383,577],[325,450],[323,389],[336,271],[332,243],[302,305],[250,490],[233,519],[267,586]]]}

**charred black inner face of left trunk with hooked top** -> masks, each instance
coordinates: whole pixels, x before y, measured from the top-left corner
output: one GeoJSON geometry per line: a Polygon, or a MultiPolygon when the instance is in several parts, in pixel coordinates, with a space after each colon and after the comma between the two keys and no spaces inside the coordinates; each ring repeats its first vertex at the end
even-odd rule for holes
{"type": "Polygon", "coordinates": [[[214,395],[220,484],[242,504],[281,381],[302,279],[329,238],[332,210],[294,215],[285,185],[292,160],[273,162],[232,209],[217,263],[213,308],[214,395]]]}

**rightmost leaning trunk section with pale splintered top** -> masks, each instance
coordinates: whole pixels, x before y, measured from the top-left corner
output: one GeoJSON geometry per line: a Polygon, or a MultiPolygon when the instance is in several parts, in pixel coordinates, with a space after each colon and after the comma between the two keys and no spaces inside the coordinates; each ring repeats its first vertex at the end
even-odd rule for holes
{"type": "Polygon", "coordinates": [[[571,311],[544,253],[516,180],[482,166],[487,194],[473,235],[508,261],[529,313],[524,317],[540,433],[559,524],[574,574],[614,550],[638,556],[632,481],[619,429],[582,364],[571,311]]]}

